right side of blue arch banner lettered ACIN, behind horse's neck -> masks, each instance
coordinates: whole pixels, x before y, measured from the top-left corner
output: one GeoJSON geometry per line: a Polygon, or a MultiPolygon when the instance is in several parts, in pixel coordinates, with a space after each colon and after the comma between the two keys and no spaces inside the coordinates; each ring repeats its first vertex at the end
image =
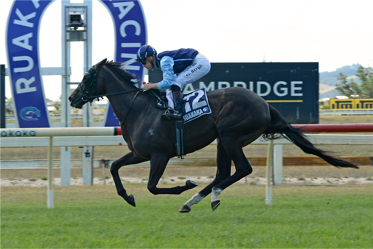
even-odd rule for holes
{"type": "MultiPolygon", "coordinates": [[[[125,69],[139,78],[143,77],[142,64],[135,61],[137,50],[147,43],[145,14],[139,0],[100,0],[109,11],[114,23],[115,62],[125,62],[125,69]]],[[[142,82],[142,81],[140,81],[142,82]]],[[[140,87],[140,86],[139,86],[140,87]]],[[[107,111],[105,126],[118,126],[111,106],[107,111]]]]}

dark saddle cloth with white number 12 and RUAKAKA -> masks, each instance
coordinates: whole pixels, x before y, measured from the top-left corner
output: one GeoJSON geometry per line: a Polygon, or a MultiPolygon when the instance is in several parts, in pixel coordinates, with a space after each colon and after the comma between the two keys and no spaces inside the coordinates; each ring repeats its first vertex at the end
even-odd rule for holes
{"type": "MultiPolygon", "coordinates": [[[[172,92],[167,92],[166,97],[169,106],[174,108],[174,99],[172,97],[172,92]]],[[[195,120],[202,115],[211,113],[205,88],[197,89],[193,92],[184,94],[182,106],[184,123],[188,123],[189,121],[195,120]]]]}

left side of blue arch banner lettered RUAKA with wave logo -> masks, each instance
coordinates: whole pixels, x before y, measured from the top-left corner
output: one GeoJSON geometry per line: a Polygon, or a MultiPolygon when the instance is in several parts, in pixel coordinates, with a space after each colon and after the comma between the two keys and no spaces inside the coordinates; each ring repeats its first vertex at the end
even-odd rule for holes
{"type": "Polygon", "coordinates": [[[39,61],[39,28],[53,0],[14,0],[6,25],[6,51],[14,114],[20,128],[50,127],[39,61]]]}

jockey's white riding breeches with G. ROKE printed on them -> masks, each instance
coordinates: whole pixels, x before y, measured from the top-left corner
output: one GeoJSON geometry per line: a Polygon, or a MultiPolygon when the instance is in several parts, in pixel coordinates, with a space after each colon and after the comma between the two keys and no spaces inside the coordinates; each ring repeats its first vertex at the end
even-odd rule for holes
{"type": "Polygon", "coordinates": [[[190,66],[184,69],[174,80],[174,85],[183,88],[206,75],[211,68],[210,61],[202,54],[197,54],[190,66]]]}

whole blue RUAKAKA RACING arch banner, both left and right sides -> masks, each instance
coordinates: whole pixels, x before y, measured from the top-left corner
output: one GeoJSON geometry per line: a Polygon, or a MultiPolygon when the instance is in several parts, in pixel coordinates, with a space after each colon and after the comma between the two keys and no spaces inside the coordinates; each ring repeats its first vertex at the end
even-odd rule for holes
{"type": "MultiPolygon", "coordinates": [[[[16,119],[20,128],[50,127],[39,61],[39,28],[42,15],[54,0],[14,0],[6,25],[6,50],[16,119]]],[[[143,77],[136,52],[147,43],[145,15],[139,0],[100,0],[115,27],[114,61],[143,77]]],[[[105,126],[118,126],[109,106],[105,126]]]]}

